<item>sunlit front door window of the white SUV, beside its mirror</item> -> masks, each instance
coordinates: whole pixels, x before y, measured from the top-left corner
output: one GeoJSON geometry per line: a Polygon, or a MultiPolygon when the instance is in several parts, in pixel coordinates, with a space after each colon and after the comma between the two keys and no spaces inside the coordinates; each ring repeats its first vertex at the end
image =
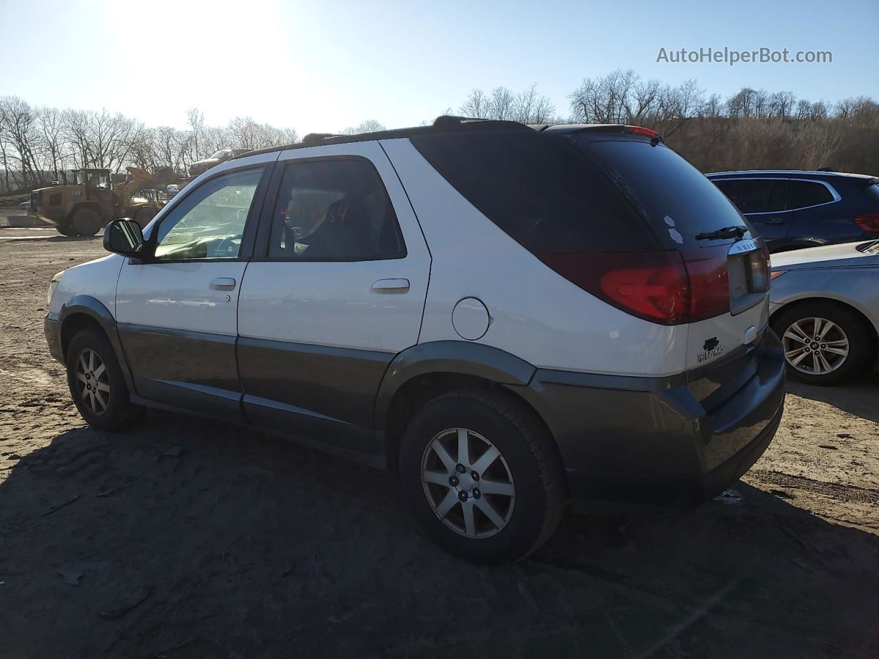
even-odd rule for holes
{"type": "Polygon", "coordinates": [[[263,168],[234,171],[193,190],[158,226],[156,258],[236,258],[263,168]]]}

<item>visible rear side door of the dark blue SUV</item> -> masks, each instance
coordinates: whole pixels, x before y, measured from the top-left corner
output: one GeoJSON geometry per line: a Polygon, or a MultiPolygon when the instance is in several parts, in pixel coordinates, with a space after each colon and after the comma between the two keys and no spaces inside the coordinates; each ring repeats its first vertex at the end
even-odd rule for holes
{"type": "Polygon", "coordinates": [[[783,178],[715,179],[715,185],[730,198],[757,233],[772,243],[788,235],[795,214],[788,210],[788,182],[783,178]]]}

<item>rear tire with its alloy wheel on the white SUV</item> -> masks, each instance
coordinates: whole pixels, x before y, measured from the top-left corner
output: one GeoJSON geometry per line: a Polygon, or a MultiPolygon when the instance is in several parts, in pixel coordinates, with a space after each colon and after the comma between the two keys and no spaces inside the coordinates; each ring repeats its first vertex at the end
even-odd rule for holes
{"type": "Polygon", "coordinates": [[[510,395],[462,390],[426,403],[403,433],[400,478],[425,532],[477,563],[520,561],[564,511],[556,446],[510,395]]]}

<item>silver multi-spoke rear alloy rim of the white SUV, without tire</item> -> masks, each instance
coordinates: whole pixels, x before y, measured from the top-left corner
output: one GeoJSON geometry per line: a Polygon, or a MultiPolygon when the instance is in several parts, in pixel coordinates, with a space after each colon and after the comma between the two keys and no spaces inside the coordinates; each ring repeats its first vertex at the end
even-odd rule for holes
{"type": "Polygon", "coordinates": [[[463,536],[488,538],[510,521],[515,503],[510,467],[477,432],[448,428],[432,438],[421,460],[421,482],[437,517],[463,536]]]}

